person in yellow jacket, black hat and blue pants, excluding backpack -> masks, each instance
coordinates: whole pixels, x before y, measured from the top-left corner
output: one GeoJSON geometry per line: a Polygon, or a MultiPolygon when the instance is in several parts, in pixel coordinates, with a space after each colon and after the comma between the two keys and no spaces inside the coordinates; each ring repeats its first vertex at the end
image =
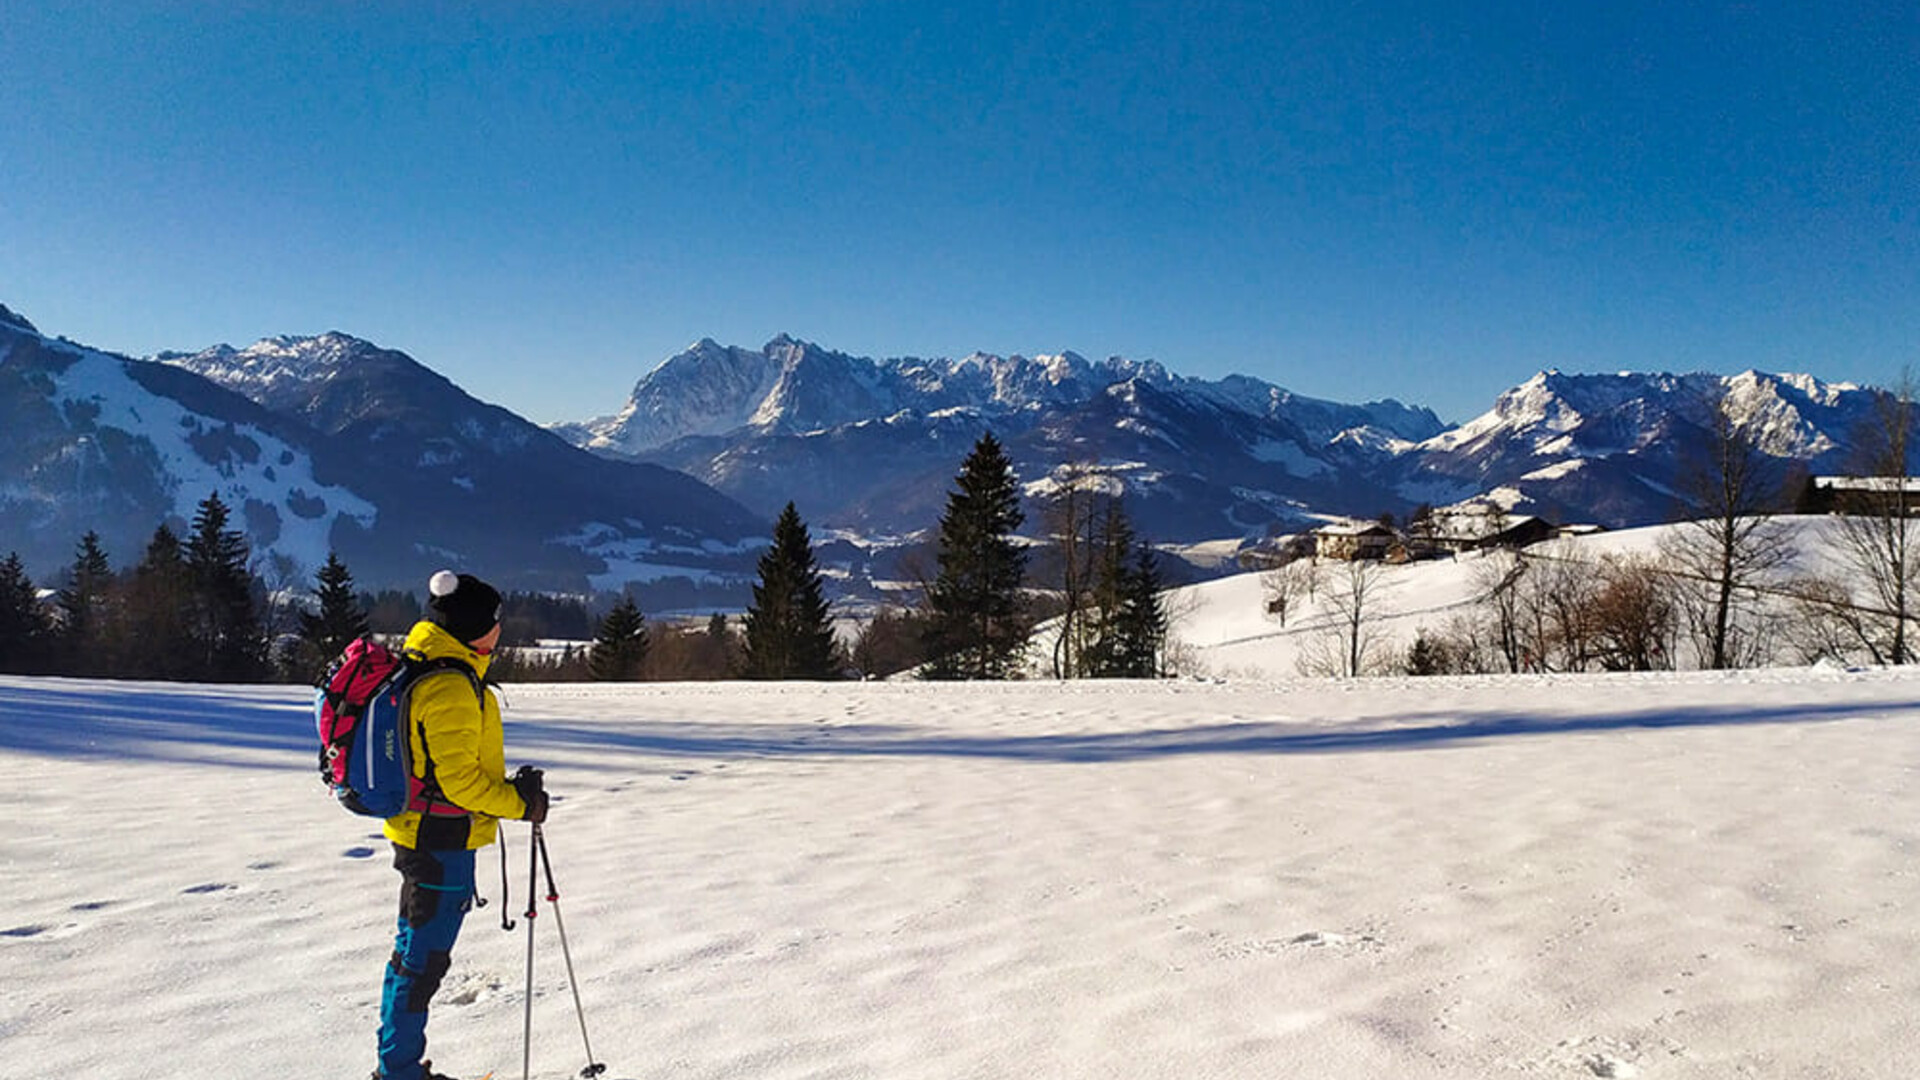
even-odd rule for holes
{"type": "Polygon", "coordinates": [[[409,655],[451,663],[413,684],[415,799],[384,828],[399,871],[399,928],[380,994],[374,1080],[451,1080],[422,1059],[426,1007],[474,901],[474,851],[493,844],[499,819],[547,817],[541,773],[520,767],[507,776],[499,701],[486,688],[499,605],[488,582],[440,571],[428,582],[426,619],[407,634],[409,655]]]}

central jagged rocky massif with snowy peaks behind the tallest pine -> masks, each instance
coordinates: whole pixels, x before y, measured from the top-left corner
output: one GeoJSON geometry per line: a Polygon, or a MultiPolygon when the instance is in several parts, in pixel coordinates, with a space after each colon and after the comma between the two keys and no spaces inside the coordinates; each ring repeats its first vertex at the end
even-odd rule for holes
{"type": "MultiPolygon", "coordinates": [[[[1394,402],[1317,402],[1246,377],[1206,382],[1154,361],[1073,352],[874,361],[789,336],[758,352],[699,342],[636,386],[614,417],[555,430],[603,454],[682,469],[774,513],[804,496],[828,528],[933,525],[968,444],[993,430],[1027,480],[1114,473],[1167,540],[1263,534],[1283,507],[1377,513],[1352,461],[1440,430],[1394,402]]],[[[1039,490],[1039,488],[1035,488],[1039,490]]]]}

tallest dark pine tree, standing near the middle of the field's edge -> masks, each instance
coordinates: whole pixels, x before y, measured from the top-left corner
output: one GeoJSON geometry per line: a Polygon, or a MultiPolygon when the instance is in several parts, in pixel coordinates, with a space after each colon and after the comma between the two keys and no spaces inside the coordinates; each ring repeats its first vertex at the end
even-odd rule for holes
{"type": "Polygon", "coordinates": [[[1027,553],[1014,544],[1020,488],[993,434],[973,444],[941,517],[939,577],[927,588],[927,678],[1008,678],[1027,644],[1021,580],[1027,553]]]}

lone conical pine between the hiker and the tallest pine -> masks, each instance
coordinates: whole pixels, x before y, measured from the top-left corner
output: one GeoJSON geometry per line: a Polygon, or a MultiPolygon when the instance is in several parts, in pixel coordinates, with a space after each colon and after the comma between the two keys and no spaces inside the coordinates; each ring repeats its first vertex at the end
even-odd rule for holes
{"type": "Polygon", "coordinates": [[[745,617],[749,678],[833,678],[839,657],[828,600],[814,565],[814,542],[787,503],[774,523],[774,546],[760,555],[760,582],[745,617]]]}

